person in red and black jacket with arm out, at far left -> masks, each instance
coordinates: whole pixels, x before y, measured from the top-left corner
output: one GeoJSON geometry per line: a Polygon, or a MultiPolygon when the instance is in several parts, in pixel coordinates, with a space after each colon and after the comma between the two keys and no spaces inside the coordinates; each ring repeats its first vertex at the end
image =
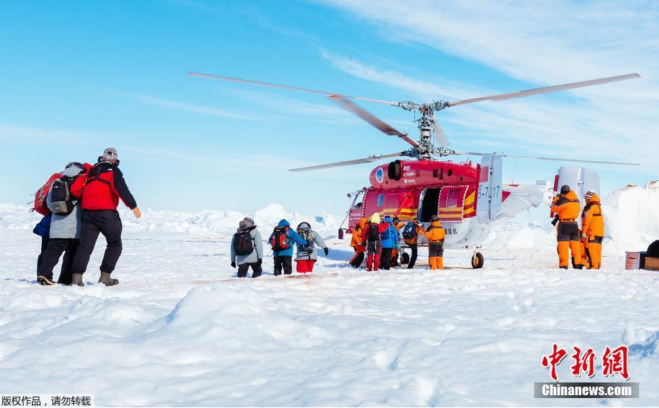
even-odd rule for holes
{"type": "Polygon", "coordinates": [[[92,256],[99,233],[105,236],[107,247],[101,262],[100,283],[113,286],[119,283],[111,277],[116,263],[121,256],[121,219],[116,210],[119,199],[133,211],[135,218],[142,216],[142,211],[133,198],[133,194],[123,180],[123,173],[118,168],[119,158],[114,148],[106,148],[95,165],[85,163],[85,177],[78,177],[71,186],[71,194],[81,200],[82,226],[80,243],[73,260],[73,285],[84,286],[82,274],[87,270],[89,257],[92,256]]]}

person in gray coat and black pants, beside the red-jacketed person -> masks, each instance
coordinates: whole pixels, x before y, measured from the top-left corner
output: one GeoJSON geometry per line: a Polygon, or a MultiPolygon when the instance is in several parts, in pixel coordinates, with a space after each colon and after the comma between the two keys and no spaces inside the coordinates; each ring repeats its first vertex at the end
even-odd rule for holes
{"type": "MultiPolygon", "coordinates": [[[[79,162],[70,162],[67,164],[62,177],[67,177],[70,184],[83,171],[84,167],[79,162]]],[[[80,225],[82,218],[82,211],[80,210],[80,203],[74,201],[73,209],[69,214],[52,214],[50,221],[50,240],[48,246],[43,253],[41,265],[38,271],[37,280],[41,285],[55,285],[52,278],[52,269],[55,268],[57,262],[60,261],[60,256],[64,253],[62,259],[62,269],[57,283],[64,285],[71,285],[72,281],[72,266],[75,258],[75,253],[80,242],[80,225]]],[[[46,197],[46,204],[52,211],[52,188],[46,197]]]]}

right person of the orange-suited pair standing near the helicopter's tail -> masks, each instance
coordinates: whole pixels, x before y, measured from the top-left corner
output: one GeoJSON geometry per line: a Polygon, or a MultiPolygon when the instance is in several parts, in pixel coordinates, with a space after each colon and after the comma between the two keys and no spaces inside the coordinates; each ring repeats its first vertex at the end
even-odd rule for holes
{"type": "Polygon", "coordinates": [[[583,258],[588,269],[599,269],[602,265],[602,240],[604,239],[604,216],[599,196],[594,191],[584,194],[584,211],[581,213],[581,238],[585,245],[583,258]]]}

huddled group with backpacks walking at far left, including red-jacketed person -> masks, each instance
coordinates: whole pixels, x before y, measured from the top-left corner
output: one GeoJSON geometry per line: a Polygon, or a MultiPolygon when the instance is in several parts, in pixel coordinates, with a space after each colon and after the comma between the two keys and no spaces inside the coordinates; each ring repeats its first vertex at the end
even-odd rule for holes
{"type": "Polygon", "coordinates": [[[57,283],[84,286],[82,275],[99,234],[107,243],[99,283],[119,283],[111,277],[122,250],[119,199],[135,218],[142,213],[118,165],[117,151],[106,148],[96,164],[70,162],[35,194],[35,211],[43,215],[33,230],[41,237],[37,260],[37,280],[41,285],[55,285],[52,270],[63,253],[57,283]]]}

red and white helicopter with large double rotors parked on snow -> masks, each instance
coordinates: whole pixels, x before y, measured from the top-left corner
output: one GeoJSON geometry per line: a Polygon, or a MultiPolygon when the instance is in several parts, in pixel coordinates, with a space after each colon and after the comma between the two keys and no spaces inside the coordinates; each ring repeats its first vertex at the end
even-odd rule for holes
{"type": "MultiPolygon", "coordinates": [[[[381,216],[397,216],[401,221],[411,221],[418,218],[423,226],[430,224],[431,216],[438,216],[446,231],[444,248],[472,248],[472,268],[482,268],[484,256],[480,252],[482,243],[490,231],[501,226],[522,211],[541,204],[550,204],[560,185],[577,186],[578,193],[593,189],[599,193],[599,175],[587,167],[563,165],[552,183],[538,180],[536,184],[504,184],[502,182],[502,158],[524,158],[536,160],[552,160],[560,162],[582,162],[604,165],[638,165],[633,162],[612,162],[601,160],[580,160],[568,158],[545,158],[526,155],[507,155],[502,152],[479,153],[453,150],[448,146],[448,138],[439,125],[435,114],[444,109],[473,104],[482,101],[506,101],[538,94],[564,91],[580,87],[590,87],[610,82],[641,77],[636,73],[590,79],[582,82],[554,85],[527,89],[519,92],[495,94],[485,97],[455,101],[431,101],[417,103],[416,101],[384,101],[365,97],[355,97],[348,94],[325,92],[315,89],[292,87],[270,82],[253,81],[236,77],[223,77],[199,72],[189,72],[191,77],[217,79],[229,82],[240,82],[261,87],[287,89],[298,92],[319,94],[327,97],[341,108],[349,111],[362,120],[370,123],[387,136],[396,136],[409,145],[406,150],[396,153],[371,155],[366,158],[345,160],[323,165],[299,167],[290,169],[292,172],[322,170],[332,167],[357,165],[368,162],[378,162],[396,158],[387,164],[378,165],[369,175],[370,186],[348,193],[352,199],[347,211],[348,228],[343,224],[338,231],[339,238],[343,233],[353,233],[356,225],[362,219],[378,213],[381,216]],[[416,118],[419,137],[414,140],[408,133],[397,130],[388,123],[377,118],[354,101],[365,101],[375,104],[395,106],[405,111],[419,114],[416,118]],[[453,160],[437,160],[453,155],[480,156],[480,162],[473,163],[467,158],[463,162],[453,160]],[[404,158],[404,159],[400,159],[404,158]],[[583,191],[582,191],[583,190],[583,191]]],[[[345,219],[344,219],[345,223],[345,219]]],[[[419,246],[427,246],[423,234],[419,236],[419,246]]],[[[409,255],[405,252],[405,244],[401,243],[401,262],[407,263],[409,255]]]]}

